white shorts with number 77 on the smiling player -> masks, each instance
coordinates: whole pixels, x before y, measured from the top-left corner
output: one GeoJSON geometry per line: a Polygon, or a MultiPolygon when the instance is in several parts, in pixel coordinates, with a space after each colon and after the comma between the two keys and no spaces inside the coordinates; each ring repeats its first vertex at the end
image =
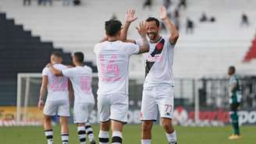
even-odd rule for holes
{"type": "Polygon", "coordinates": [[[154,86],[143,90],[140,120],[156,121],[158,111],[160,118],[173,118],[173,86],[154,86]]]}

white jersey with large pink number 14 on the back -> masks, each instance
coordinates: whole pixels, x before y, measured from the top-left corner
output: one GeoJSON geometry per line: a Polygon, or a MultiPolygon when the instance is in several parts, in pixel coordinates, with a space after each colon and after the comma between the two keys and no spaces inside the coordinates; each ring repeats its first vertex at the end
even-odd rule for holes
{"type": "Polygon", "coordinates": [[[98,68],[98,94],[128,94],[130,55],[138,54],[137,44],[105,41],[94,46],[98,68]]]}

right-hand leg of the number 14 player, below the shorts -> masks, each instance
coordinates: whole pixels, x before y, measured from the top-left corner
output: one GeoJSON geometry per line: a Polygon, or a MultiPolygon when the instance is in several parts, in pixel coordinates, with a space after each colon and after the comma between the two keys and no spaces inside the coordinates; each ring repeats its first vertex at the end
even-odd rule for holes
{"type": "Polygon", "coordinates": [[[123,139],[123,122],[112,120],[112,144],[121,144],[123,139]]]}

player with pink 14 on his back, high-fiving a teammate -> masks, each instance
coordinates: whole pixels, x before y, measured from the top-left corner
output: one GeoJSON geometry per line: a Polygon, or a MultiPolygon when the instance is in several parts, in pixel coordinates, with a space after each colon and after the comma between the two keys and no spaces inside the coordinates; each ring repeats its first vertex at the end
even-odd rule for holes
{"type": "MultiPolygon", "coordinates": [[[[127,12],[126,22],[133,22],[134,11],[127,12]]],[[[98,113],[100,117],[100,144],[108,144],[108,132],[112,126],[112,143],[122,143],[123,125],[127,122],[129,59],[132,54],[148,52],[147,31],[143,22],[137,28],[141,45],[120,40],[122,23],[119,20],[105,22],[107,40],[94,46],[98,67],[98,113]]]]}

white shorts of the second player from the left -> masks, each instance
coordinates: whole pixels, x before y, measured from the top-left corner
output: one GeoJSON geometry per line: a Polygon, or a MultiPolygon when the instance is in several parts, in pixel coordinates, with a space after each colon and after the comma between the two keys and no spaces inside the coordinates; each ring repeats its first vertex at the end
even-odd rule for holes
{"type": "Polygon", "coordinates": [[[74,104],[74,110],[73,110],[74,123],[75,124],[86,123],[93,109],[94,109],[94,104],[92,103],[74,104]]]}

